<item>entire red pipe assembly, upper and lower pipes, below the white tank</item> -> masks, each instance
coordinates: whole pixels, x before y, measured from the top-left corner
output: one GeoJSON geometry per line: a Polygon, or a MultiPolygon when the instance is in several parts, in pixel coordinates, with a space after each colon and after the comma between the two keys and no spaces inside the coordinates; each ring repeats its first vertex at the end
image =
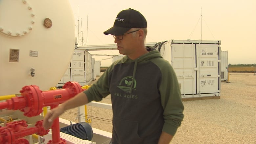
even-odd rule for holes
{"type": "MultiPolygon", "coordinates": [[[[63,86],[63,89],[50,91],[41,91],[36,85],[24,86],[22,90],[20,90],[21,96],[12,97],[10,100],[0,103],[0,109],[19,109],[24,112],[25,116],[37,116],[42,113],[43,107],[50,106],[51,109],[57,107],[59,104],[74,97],[83,90],[84,89],[82,89],[77,82],[67,82],[63,86]]],[[[5,144],[3,141],[5,140],[9,144],[14,142],[15,138],[17,140],[17,138],[34,134],[35,132],[39,135],[46,135],[49,132],[49,130],[43,129],[42,121],[39,121],[35,128],[24,129],[24,127],[27,126],[21,126],[19,124],[19,126],[16,126],[15,128],[12,127],[2,130],[0,133],[0,143],[5,144]]],[[[66,143],[65,139],[60,138],[58,118],[53,121],[52,138],[53,140],[49,141],[48,144],[66,143]]],[[[26,144],[23,139],[19,139],[19,141],[26,144]]]]}

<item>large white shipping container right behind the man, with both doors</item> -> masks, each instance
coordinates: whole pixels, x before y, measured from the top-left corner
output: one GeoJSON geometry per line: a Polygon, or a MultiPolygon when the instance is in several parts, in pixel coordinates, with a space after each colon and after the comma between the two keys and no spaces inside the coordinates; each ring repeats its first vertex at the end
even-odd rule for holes
{"type": "Polygon", "coordinates": [[[170,40],[160,53],[176,73],[182,98],[220,96],[220,41],[170,40]]]}

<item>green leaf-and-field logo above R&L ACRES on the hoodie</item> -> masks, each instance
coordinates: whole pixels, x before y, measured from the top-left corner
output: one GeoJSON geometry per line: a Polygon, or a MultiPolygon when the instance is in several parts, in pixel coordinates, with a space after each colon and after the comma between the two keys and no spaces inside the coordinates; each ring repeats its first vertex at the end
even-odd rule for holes
{"type": "Polygon", "coordinates": [[[129,93],[131,89],[136,90],[136,80],[132,76],[127,76],[120,81],[119,86],[117,87],[124,92],[129,93]]]}

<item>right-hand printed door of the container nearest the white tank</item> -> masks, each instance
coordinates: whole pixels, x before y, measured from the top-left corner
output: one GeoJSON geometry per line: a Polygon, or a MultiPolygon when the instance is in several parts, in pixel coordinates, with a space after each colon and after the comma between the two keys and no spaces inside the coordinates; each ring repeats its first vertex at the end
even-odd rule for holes
{"type": "Polygon", "coordinates": [[[78,82],[81,86],[85,81],[85,51],[74,51],[72,59],[71,78],[72,81],[78,82]]]}

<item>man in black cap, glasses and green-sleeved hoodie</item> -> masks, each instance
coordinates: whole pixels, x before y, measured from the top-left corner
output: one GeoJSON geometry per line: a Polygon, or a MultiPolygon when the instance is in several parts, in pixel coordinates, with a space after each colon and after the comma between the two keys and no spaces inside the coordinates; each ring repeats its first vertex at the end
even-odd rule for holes
{"type": "Polygon", "coordinates": [[[168,144],[183,120],[183,104],[175,72],[159,51],[147,51],[147,21],[133,9],[121,11],[114,26],[104,32],[115,38],[119,53],[114,62],[88,90],[45,116],[44,128],[65,110],[101,101],[111,94],[112,144],[168,144]]]}

